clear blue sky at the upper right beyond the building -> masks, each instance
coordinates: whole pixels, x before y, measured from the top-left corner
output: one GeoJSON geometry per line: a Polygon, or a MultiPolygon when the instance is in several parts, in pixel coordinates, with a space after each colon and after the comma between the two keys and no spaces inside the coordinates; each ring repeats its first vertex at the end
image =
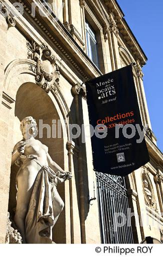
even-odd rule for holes
{"type": "Polygon", "coordinates": [[[152,131],[163,151],[163,0],[117,0],[124,18],[148,60],[143,67],[143,83],[152,131]]]}

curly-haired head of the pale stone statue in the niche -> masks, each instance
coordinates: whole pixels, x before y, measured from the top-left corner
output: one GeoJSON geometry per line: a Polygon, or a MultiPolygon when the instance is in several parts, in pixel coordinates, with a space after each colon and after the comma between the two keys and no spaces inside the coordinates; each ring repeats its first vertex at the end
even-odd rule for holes
{"type": "Polygon", "coordinates": [[[23,118],[20,128],[25,139],[35,137],[38,132],[37,122],[32,116],[23,118]]]}

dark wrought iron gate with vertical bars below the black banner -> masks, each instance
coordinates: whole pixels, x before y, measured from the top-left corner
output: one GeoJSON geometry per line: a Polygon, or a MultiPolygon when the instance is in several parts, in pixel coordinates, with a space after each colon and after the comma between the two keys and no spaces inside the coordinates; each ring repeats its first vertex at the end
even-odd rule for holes
{"type": "Polygon", "coordinates": [[[96,179],[102,243],[133,243],[125,178],[96,172],[96,179]]]}

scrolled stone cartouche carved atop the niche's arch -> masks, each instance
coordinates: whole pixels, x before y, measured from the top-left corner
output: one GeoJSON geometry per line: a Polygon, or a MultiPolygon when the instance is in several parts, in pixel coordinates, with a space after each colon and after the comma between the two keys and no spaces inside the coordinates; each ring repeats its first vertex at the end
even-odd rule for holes
{"type": "Polygon", "coordinates": [[[59,67],[56,64],[56,57],[47,45],[38,45],[35,41],[27,41],[28,58],[36,61],[36,67],[30,69],[36,72],[36,83],[46,92],[55,89],[59,85],[59,67]]]}

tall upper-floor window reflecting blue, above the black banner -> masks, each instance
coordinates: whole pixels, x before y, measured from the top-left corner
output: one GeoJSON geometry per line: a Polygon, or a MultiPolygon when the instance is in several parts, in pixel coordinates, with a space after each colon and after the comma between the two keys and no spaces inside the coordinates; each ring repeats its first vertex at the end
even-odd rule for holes
{"type": "Polygon", "coordinates": [[[86,21],[87,55],[99,68],[96,33],[86,21]]]}

